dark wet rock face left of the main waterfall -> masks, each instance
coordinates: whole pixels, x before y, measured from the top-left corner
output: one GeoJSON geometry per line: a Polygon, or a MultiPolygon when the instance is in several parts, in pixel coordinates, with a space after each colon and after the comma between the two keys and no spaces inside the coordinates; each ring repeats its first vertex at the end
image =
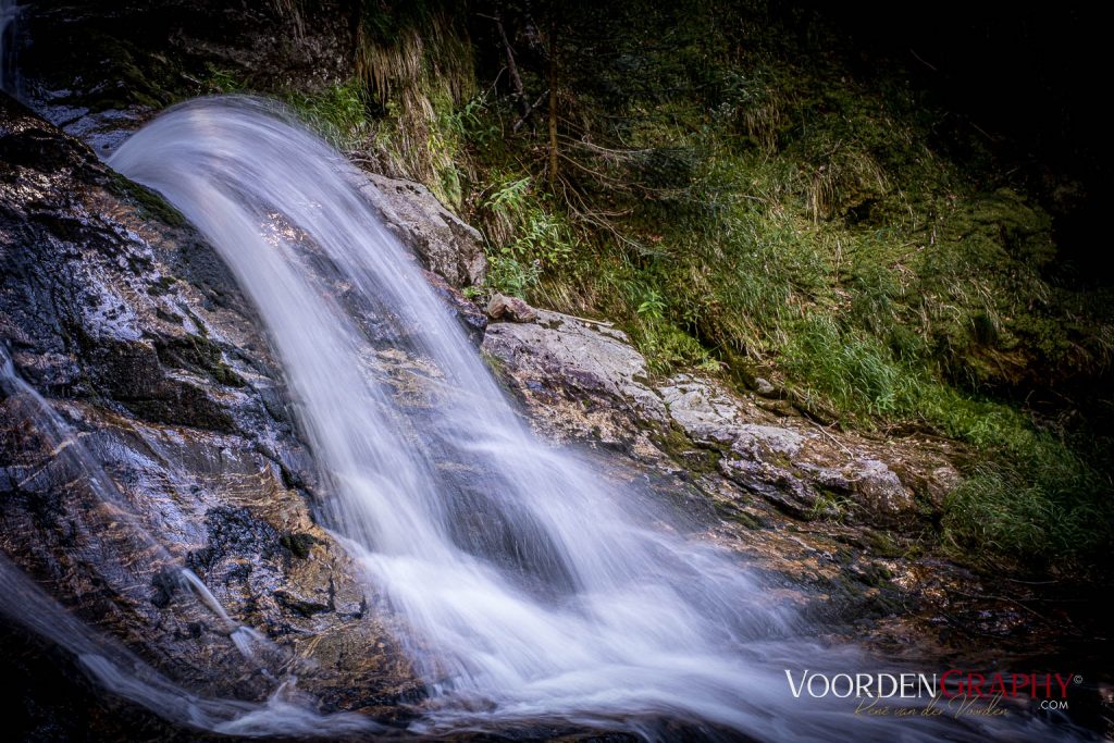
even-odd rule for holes
{"type": "Polygon", "coordinates": [[[324,708],[390,717],[420,685],[314,524],[311,459],[256,326],[160,199],[0,100],[0,342],[57,416],[0,399],[0,548],[188,687],[265,697],[234,627],[175,577],[188,567],[274,643],[272,676],[295,668],[324,708]]]}

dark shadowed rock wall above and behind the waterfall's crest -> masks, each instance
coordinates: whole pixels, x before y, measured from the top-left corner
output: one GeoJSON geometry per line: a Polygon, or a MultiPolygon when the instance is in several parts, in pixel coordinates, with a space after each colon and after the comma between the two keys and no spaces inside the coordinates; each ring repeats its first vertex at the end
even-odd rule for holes
{"type": "Polygon", "coordinates": [[[218,92],[313,91],[354,72],[355,3],[46,0],[23,13],[23,95],[97,151],[154,111],[218,92]]]}

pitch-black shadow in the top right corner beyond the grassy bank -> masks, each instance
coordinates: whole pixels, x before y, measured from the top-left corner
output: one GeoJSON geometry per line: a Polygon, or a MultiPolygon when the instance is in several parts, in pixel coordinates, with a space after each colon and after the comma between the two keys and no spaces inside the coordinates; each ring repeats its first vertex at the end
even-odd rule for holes
{"type": "Polygon", "coordinates": [[[986,138],[1055,217],[1073,283],[1110,285],[1112,40],[1101,3],[822,0],[809,8],[863,51],[898,65],[954,117],[986,138]]]}

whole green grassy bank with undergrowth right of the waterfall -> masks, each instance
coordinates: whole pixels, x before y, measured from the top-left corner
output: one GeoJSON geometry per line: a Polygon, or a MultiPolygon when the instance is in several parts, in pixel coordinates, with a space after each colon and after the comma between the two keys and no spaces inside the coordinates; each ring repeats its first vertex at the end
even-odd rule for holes
{"type": "Polygon", "coordinates": [[[799,11],[473,10],[368,3],[358,76],[287,100],[478,225],[487,291],[615,320],[656,373],[761,374],[824,420],[961,442],[957,555],[1114,540],[1110,403],[1020,402],[1108,374],[1114,304],[1073,287],[983,135],[799,11]]]}

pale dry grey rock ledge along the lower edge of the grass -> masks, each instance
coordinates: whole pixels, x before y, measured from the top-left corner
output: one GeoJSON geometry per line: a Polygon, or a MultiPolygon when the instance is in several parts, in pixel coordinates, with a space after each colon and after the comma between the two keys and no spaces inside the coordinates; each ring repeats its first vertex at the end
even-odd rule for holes
{"type": "Polygon", "coordinates": [[[681,433],[715,452],[724,477],[790,516],[844,516],[843,501],[868,524],[909,525],[959,478],[938,446],[833,434],[779,404],[772,387],[764,399],[691,374],[651,381],[645,360],[606,323],[543,311],[534,324],[491,324],[482,349],[536,420],[610,444],[681,433]]]}

